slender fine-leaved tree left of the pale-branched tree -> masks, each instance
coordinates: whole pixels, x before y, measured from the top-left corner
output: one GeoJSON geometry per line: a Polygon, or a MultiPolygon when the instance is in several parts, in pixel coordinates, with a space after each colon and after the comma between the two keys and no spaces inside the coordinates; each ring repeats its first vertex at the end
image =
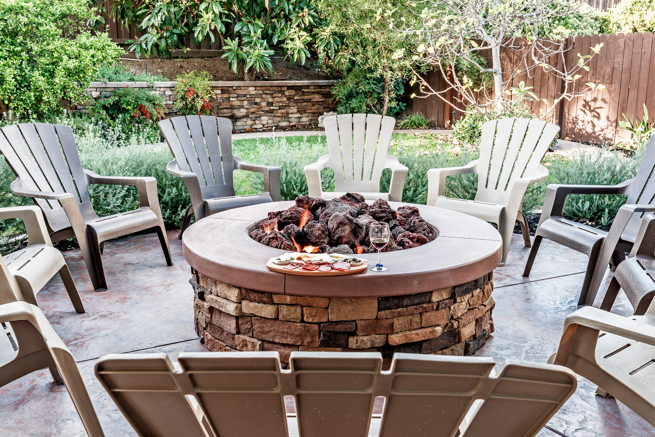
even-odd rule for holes
{"type": "MultiPolygon", "coordinates": [[[[350,81],[351,88],[374,90],[371,80],[379,79],[383,84],[383,90],[378,94],[383,99],[381,113],[386,115],[390,108],[396,112],[400,109],[396,97],[403,90],[400,86],[398,92],[398,82],[402,82],[410,70],[409,65],[394,54],[409,52],[413,39],[391,31],[389,22],[400,19],[407,12],[406,3],[402,0],[322,0],[320,6],[330,20],[331,35],[341,35],[343,39],[334,60],[335,65],[346,72],[341,85],[350,81]]],[[[368,105],[374,110],[376,106],[368,105]]]]}

